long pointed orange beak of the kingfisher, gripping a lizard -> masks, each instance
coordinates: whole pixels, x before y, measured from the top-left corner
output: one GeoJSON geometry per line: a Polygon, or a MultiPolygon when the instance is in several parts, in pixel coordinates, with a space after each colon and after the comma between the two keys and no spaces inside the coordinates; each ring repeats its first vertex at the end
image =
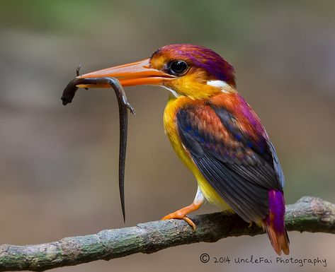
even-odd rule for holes
{"type": "MultiPolygon", "coordinates": [[[[173,80],[175,76],[152,69],[149,59],[123,64],[111,68],[85,73],[76,78],[117,78],[123,87],[132,85],[162,85],[164,81],[173,80]]],[[[80,84],[78,88],[110,88],[108,84],[80,84]]]]}

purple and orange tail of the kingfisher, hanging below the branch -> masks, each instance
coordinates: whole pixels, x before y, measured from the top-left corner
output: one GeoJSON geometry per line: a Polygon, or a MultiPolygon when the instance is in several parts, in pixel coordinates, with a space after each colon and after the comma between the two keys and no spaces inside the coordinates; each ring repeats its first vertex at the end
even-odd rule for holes
{"type": "Polygon", "coordinates": [[[263,230],[266,231],[273,249],[278,255],[290,253],[290,240],[285,229],[285,199],[283,191],[268,191],[268,206],[270,213],[262,221],[263,230]]]}

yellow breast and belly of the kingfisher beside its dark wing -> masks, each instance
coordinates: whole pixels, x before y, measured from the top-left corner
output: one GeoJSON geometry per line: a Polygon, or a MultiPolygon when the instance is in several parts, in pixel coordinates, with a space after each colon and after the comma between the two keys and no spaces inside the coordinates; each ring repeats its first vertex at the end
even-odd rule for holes
{"type": "Polygon", "coordinates": [[[178,98],[171,96],[169,101],[166,104],[164,110],[164,129],[165,134],[169,137],[170,143],[177,155],[183,163],[193,172],[195,179],[197,179],[198,186],[203,192],[205,198],[212,204],[219,206],[222,210],[230,210],[231,208],[227,203],[217,194],[215,189],[213,189],[210,184],[207,182],[205,177],[198,170],[198,167],[193,162],[191,155],[188,153],[186,148],[183,147],[181,143],[181,138],[178,134],[177,122],[176,122],[176,113],[182,107],[186,105],[192,105],[195,101],[191,100],[189,97],[180,96],[178,98]]]}

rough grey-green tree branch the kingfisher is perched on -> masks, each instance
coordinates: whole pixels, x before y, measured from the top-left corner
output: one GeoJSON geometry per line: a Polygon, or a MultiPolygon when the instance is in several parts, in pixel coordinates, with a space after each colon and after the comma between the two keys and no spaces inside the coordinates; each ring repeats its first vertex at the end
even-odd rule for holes
{"type": "MultiPolygon", "coordinates": [[[[225,237],[259,235],[261,227],[239,216],[211,213],[190,216],[195,231],[184,220],[154,221],[95,235],[67,237],[57,242],[0,246],[0,271],[45,271],[99,259],[110,260],[138,252],[153,253],[168,247],[195,242],[216,242],[225,237]]],[[[300,232],[335,233],[335,205],[304,196],[286,206],[286,227],[300,232]]]]}

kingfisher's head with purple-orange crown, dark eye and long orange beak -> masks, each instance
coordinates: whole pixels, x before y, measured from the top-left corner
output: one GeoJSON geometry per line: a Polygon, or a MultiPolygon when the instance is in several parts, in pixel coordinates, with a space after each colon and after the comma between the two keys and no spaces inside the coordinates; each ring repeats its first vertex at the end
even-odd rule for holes
{"type": "Polygon", "coordinates": [[[123,86],[161,85],[176,97],[185,95],[193,99],[234,92],[236,86],[232,65],[211,49],[187,44],[166,45],[157,49],[149,59],[86,73],[77,78],[101,77],[118,78],[123,86]]]}

